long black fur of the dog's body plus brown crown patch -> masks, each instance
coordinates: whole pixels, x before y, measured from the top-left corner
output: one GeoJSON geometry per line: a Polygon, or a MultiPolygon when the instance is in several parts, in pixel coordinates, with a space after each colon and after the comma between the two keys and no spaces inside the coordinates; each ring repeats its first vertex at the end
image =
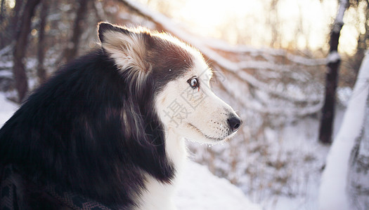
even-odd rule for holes
{"type": "Polygon", "coordinates": [[[153,65],[144,83],[130,69],[117,69],[102,48],[76,59],[1,128],[0,163],[12,163],[36,183],[52,181],[112,208],[136,203],[134,195],[145,188],[143,172],[170,183],[175,168],[165,155],[154,99],[192,59],[168,41],[143,36],[153,65]]]}

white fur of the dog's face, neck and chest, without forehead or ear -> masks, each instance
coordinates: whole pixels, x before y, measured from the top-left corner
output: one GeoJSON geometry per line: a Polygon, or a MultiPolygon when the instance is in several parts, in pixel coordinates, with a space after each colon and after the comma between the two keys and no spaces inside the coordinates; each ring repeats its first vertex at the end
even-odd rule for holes
{"type": "Polygon", "coordinates": [[[219,97],[216,97],[210,90],[209,79],[211,76],[212,72],[209,70],[209,67],[205,64],[203,59],[197,57],[195,67],[191,71],[186,73],[185,76],[169,82],[167,87],[158,94],[155,104],[160,120],[162,120],[165,126],[165,147],[169,159],[174,163],[176,177],[171,184],[163,184],[153,179],[150,175],[147,175],[147,190],[141,196],[141,206],[138,209],[176,209],[172,197],[176,190],[176,182],[180,179],[183,163],[186,161],[185,138],[214,144],[216,143],[214,139],[204,137],[203,134],[207,134],[209,137],[214,137],[216,139],[226,139],[233,136],[233,134],[230,136],[224,132],[220,132],[219,128],[217,128],[228,126],[228,114],[232,113],[235,116],[237,115],[231,106],[223,102],[219,97]],[[193,101],[191,102],[188,100],[188,102],[186,102],[186,99],[180,97],[183,91],[188,90],[189,86],[187,80],[193,76],[198,76],[200,78],[200,90],[190,89],[190,91],[198,91],[200,96],[204,96],[204,100],[198,104],[195,109],[191,106],[191,103],[194,103],[193,101]],[[181,106],[186,107],[186,109],[191,109],[188,118],[183,120],[180,125],[171,123],[171,119],[165,116],[164,113],[165,109],[174,100],[181,103],[181,106]],[[195,125],[198,130],[194,130],[194,128],[188,126],[187,123],[195,125]]]}

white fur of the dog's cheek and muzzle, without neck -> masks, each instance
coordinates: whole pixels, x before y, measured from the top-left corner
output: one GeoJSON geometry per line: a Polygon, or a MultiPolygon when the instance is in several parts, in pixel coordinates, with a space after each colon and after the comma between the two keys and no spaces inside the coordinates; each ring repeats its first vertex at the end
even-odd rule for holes
{"type": "Polygon", "coordinates": [[[181,137],[207,144],[219,143],[233,136],[229,135],[227,120],[237,114],[210,89],[212,71],[202,57],[195,57],[194,64],[191,71],[169,82],[158,94],[157,111],[164,125],[174,128],[181,137]],[[200,79],[200,90],[194,90],[188,85],[187,80],[193,76],[200,79]],[[188,112],[185,119],[167,116],[167,109],[174,101],[188,112]]]}

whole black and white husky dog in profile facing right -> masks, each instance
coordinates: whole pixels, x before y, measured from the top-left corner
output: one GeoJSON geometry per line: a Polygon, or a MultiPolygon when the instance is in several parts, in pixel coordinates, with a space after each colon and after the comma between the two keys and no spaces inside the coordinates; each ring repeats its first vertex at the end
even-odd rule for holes
{"type": "Polygon", "coordinates": [[[68,207],[43,193],[52,185],[111,209],[176,209],[185,138],[219,143],[242,121],[211,91],[198,50],[106,22],[98,38],[101,46],[58,70],[0,130],[0,163],[22,178],[11,179],[18,205],[68,207]]]}

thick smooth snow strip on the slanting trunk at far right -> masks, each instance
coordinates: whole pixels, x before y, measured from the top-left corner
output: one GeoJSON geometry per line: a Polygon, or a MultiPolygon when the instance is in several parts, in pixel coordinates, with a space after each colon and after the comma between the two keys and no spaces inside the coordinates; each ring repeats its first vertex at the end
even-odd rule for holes
{"type": "Polygon", "coordinates": [[[368,78],[369,52],[366,53],[361,64],[354,92],[344,114],[342,127],[328,154],[319,191],[319,209],[321,210],[349,209],[346,191],[349,157],[363,126],[365,102],[369,93],[368,78]]]}

